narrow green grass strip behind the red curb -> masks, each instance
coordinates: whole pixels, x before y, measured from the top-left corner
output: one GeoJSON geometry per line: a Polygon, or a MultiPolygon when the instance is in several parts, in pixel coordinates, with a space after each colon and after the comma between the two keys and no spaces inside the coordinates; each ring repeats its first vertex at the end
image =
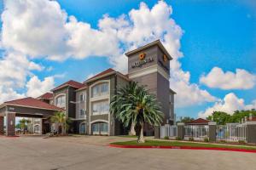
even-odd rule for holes
{"type": "Polygon", "coordinates": [[[231,146],[224,144],[202,144],[194,142],[179,142],[179,141],[159,141],[159,140],[146,140],[144,144],[137,144],[136,140],[126,142],[114,142],[111,144],[118,145],[141,145],[141,146],[190,146],[190,147],[201,147],[201,148],[228,148],[228,149],[242,149],[242,150],[256,150],[256,147],[247,146],[231,146]]]}

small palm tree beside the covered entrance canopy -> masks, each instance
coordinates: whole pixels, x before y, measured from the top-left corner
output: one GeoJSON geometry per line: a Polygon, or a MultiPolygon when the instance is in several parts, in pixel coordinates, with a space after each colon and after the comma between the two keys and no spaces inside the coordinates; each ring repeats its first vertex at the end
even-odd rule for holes
{"type": "Polygon", "coordinates": [[[71,122],[70,118],[66,116],[65,112],[57,111],[55,115],[50,117],[50,121],[58,125],[57,132],[59,133],[59,126],[61,126],[61,133],[66,134],[68,123],[71,122]]]}

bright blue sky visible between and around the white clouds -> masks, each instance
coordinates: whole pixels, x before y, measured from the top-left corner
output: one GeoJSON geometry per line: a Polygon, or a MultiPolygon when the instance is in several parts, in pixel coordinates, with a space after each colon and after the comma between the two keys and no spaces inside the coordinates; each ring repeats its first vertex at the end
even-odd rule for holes
{"type": "MultiPolygon", "coordinates": [[[[59,0],[61,9],[67,15],[73,15],[78,21],[90,24],[92,29],[98,30],[98,20],[104,14],[111,18],[118,18],[121,14],[129,14],[132,8],[140,8],[142,1],[129,0],[59,0]]],[[[143,1],[151,9],[158,1],[143,1]]],[[[244,103],[233,109],[249,108],[256,99],[255,81],[250,88],[211,88],[206,83],[201,83],[201,76],[207,75],[213,67],[222,71],[231,71],[234,74],[236,69],[247,71],[250,75],[256,74],[256,3],[253,1],[201,1],[201,0],[178,0],[166,1],[172,7],[172,15],[177,26],[183,30],[180,37],[180,48],[183,57],[178,58],[182,65],[180,69],[189,71],[189,84],[195,84],[201,90],[221,100],[221,104],[215,101],[206,101],[199,104],[179,106],[176,108],[177,116],[197,117],[200,111],[206,111],[208,107],[217,105],[216,108],[228,108],[225,105],[224,97],[227,94],[235,94],[237,99],[244,99],[244,103]],[[221,107],[223,106],[223,107],[221,107]]],[[[3,3],[0,5],[3,12],[3,3]]],[[[43,17],[43,16],[42,16],[43,17]]],[[[126,16],[127,18],[127,16],[126,16]]],[[[3,20],[2,23],[3,24],[3,20]]],[[[2,26],[1,26],[2,27],[2,26]]],[[[16,46],[15,46],[16,47],[16,46]]],[[[3,54],[9,53],[9,48],[3,47],[3,54]],[[8,51],[8,52],[7,52],[8,51]]],[[[31,55],[31,54],[26,54],[31,55]]],[[[102,55],[96,57],[91,54],[83,59],[68,58],[63,61],[55,61],[42,57],[28,57],[30,61],[44,66],[44,71],[31,71],[39,80],[44,77],[55,76],[55,85],[73,79],[79,82],[84,81],[91,73],[96,74],[109,67],[109,58],[102,55]],[[50,69],[49,69],[50,68],[50,69]]],[[[0,77],[1,78],[1,77],[0,77]]],[[[26,82],[31,76],[26,76],[26,82]]],[[[25,83],[26,83],[25,82],[25,83]]],[[[232,84],[232,80],[230,80],[232,84]]],[[[235,82],[234,82],[235,83],[235,82]]],[[[247,82],[245,82],[247,83],[247,82]]],[[[172,84],[171,84],[172,88],[172,84]]],[[[14,88],[17,93],[26,94],[26,85],[14,88]]],[[[178,92],[177,92],[178,93],[178,92]]],[[[178,95],[178,94],[177,94],[178,95]]],[[[234,96],[233,96],[234,97],[234,96]]],[[[233,101],[233,100],[232,100],[233,101]]],[[[241,104],[241,103],[239,103],[241,104]]],[[[225,110],[225,109],[224,109],[225,110]]]]}

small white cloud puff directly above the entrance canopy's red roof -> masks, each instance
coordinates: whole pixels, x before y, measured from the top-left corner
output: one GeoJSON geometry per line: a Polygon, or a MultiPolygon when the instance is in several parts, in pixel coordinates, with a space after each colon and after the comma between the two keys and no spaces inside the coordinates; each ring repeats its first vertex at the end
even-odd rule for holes
{"type": "Polygon", "coordinates": [[[26,95],[29,97],[38,97],[46,92],[49,92],[50,89],[54,88],[54,77],[45,77],[43,81],[39,80],[38,77],[33,76],[27,83],[26,95]]]}

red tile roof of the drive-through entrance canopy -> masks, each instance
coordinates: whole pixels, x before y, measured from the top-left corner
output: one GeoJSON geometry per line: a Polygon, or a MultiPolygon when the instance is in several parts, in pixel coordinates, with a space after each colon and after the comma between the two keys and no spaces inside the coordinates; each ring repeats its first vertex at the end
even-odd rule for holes
{"type": "Polygon", "coordinates": [[[20,106],[23,106],[23,107],[32,107],[32,108],[54,110],[54,111],[63,111],[61,108],[59,108],[55,105],[49,105],[49,104],[47,104],[43,101],[31,98],[31,97],[6,101],[3,104],[6,104],[6,105],[20,105],[20,106]]]}

